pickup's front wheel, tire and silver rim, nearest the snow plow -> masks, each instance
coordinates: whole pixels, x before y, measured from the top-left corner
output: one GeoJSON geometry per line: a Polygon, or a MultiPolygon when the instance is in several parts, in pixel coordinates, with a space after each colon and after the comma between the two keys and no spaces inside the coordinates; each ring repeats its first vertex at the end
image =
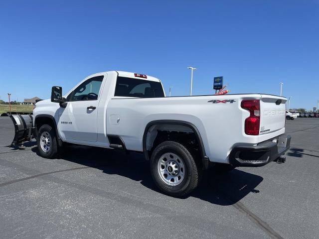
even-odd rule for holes
{"type": "Polygon", "coordinates": [[[41,157],[54,158],[58,154],[58,144],[55,130],[48,124],[43,124],[38,130],[37,146],[41,157]]]}

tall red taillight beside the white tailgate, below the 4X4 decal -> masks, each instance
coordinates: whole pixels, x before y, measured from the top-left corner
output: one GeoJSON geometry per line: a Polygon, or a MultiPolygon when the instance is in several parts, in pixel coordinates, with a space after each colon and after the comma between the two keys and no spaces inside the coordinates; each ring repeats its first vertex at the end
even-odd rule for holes
{"type": "Polygon", "coordinates": [[[244,100],[241,108],[249,111],[250,116],[245,119],[245,133],[249,135],[259,135],[260,126],[260,103],[259,100],[244,100]]]}

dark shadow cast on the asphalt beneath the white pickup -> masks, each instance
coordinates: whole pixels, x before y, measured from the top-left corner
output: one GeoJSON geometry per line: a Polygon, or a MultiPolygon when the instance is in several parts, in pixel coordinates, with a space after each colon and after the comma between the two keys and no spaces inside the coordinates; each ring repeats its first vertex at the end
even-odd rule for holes
{"type": "MultiPolygon", "coordinates": [[[[37,148],[32,148],[38,153],[37,148]]],[[[124,152],[87,146],[67,146],[60,159],[97,168],[106,174],[116,174],[140,181],[145,187],[160,191],[153,183],[149,162],[138,152],[124,152]]],[[[233,205],[249,193],[259,193],[255,188],[263,181],[258,175],[234,169],[222,175],[204,173],[201,184],[188,197],[195,197],[216,205],[233,205]]]]}

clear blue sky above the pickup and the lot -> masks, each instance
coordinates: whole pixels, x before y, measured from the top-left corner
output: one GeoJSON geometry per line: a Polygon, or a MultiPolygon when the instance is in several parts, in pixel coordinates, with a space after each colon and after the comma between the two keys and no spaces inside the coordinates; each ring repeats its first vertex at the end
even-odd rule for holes
{"type": "Polygon", "coordinates": [[[160,78],[166,94],[231,93],[319,99],[318,0],[0,1],[0,96],[49,98],[108,70],[160,78]]]}

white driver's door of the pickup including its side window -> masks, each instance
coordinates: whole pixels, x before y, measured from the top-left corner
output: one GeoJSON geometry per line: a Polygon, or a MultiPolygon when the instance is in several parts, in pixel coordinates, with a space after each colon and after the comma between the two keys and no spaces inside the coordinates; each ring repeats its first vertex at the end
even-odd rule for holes
{"type": "Polygon", "coordinates": [[[66,139],[96,142],[98,105],[103,75],[87,79],[67,96],[66,108],[60,108],[58,127],[66,139]]]}

